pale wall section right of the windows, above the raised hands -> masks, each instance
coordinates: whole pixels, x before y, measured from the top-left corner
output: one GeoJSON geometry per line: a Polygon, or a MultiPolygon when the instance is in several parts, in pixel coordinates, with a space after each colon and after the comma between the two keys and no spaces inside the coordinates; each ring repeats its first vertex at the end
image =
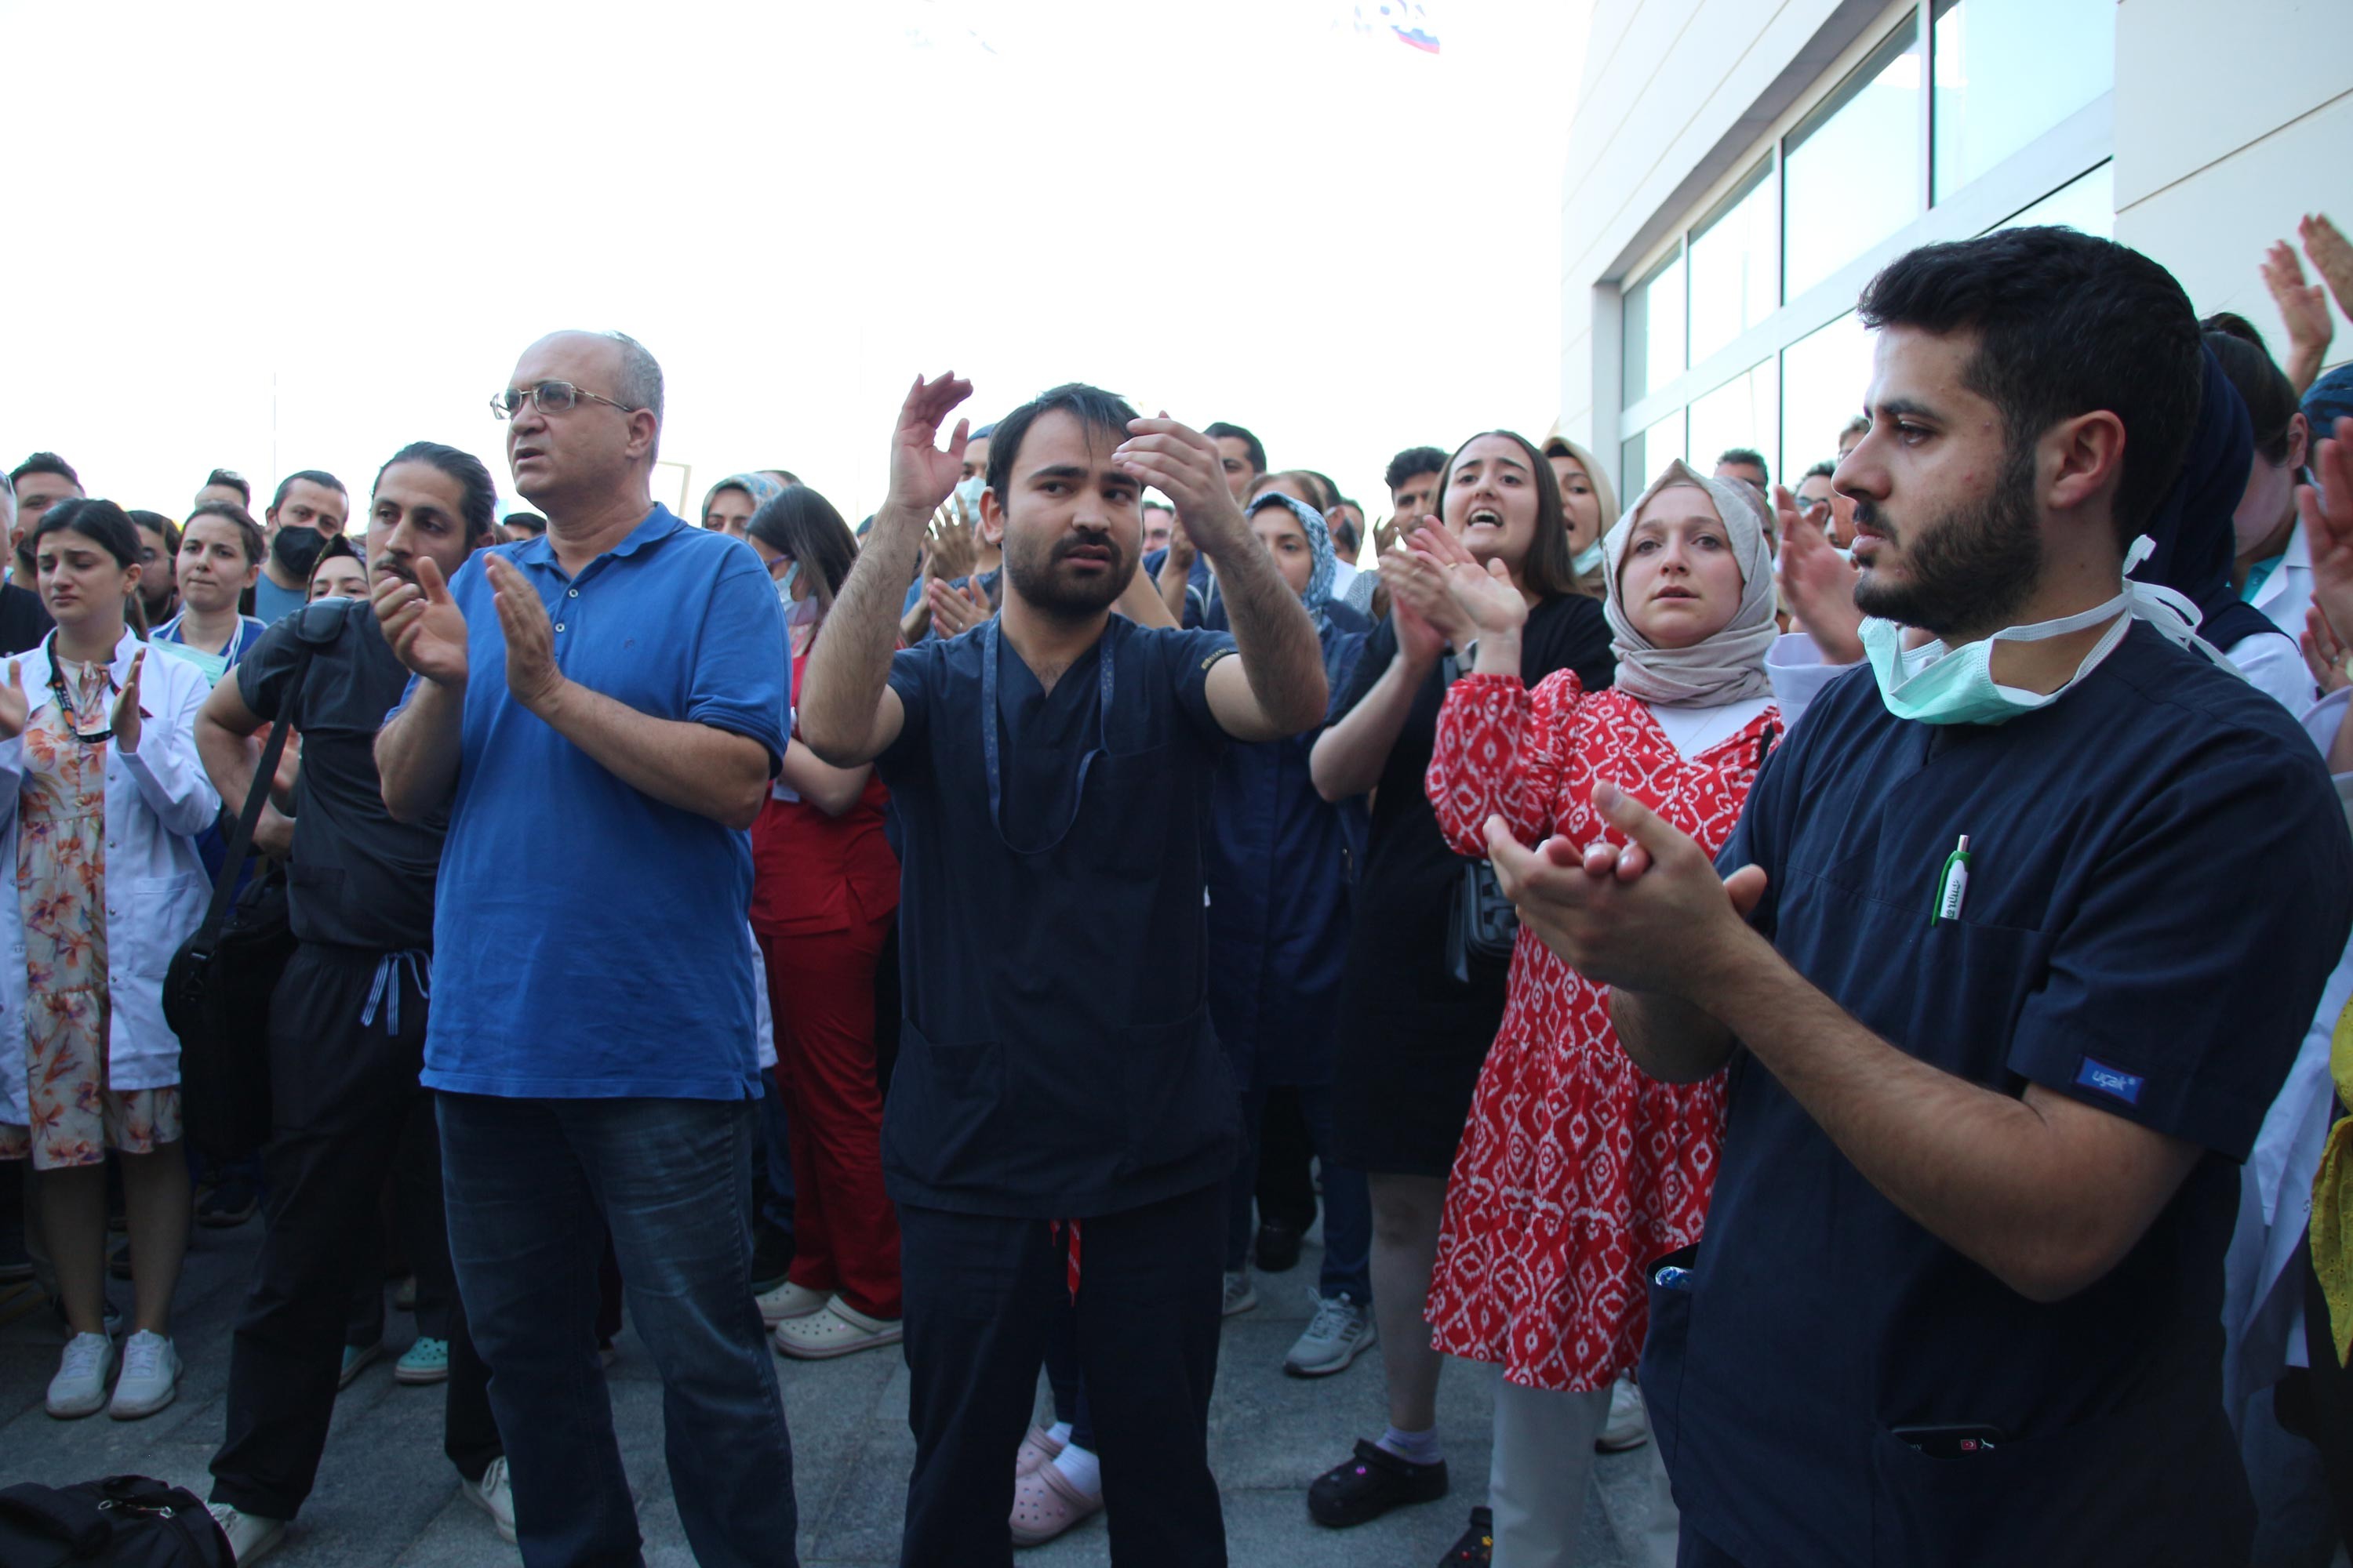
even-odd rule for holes
{"type": "MultiPolygon", "coordinates": [[[[2257,275],[2264,249],[2294,242],[2306,212],[2353,233],[2348,21],[2346,0],[2115,12],[2115,237],[2172,268],[2200,315],[2238,310],[2261,327],[2275,355],[2287,331],[2257,275]]],[[[2346,360],[2353,322],[2339,313],[2329,364],[2346,360]]]]}

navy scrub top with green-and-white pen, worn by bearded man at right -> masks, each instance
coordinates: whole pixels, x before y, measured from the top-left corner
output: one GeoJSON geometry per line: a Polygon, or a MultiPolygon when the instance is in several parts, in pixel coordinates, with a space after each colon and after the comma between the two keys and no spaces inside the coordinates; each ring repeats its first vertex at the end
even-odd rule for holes
{"type": "Polygon", "coordinates": [[[2278,703],[2146,625],[2002,726],[1894,719],[1868,670],[1774,752],[1718,856],[1758,929],[1882,1039],[2205,1150],[2134,1251],[2038,1305],[1894,1208],[1734,1056],[1689,1288],[1642,1387],[1682,1519],[1769,1563],[2228,1563],[2254,1512],[2221,1408],[2238,1161],[2353,924],[2353,839],[2278,703]],[[1969,835],[1960,919],[1929,926],[1969,835]],[[1993,1427],[1932,1458],[1894,1427],[1993,1427]]]}

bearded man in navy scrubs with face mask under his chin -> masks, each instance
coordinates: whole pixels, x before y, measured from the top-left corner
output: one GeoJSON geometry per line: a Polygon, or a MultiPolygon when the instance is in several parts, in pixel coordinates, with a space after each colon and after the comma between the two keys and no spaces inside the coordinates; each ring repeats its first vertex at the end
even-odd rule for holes
{"type": "Polygon", "coordinates": [[[2287,712],[2125,578],[2198,324],[2153,261],[2054,228],[1911,252],[1861,315],[1838,489],[1873,668],[1713,867],[1612,788],[1624,851],[1489,832],[1635,1063],[1732,1065],[1642,1359],[1680,1561],[2242,1563],[2235,1164],[2344,950],[2353,844],[2287,712]]]}

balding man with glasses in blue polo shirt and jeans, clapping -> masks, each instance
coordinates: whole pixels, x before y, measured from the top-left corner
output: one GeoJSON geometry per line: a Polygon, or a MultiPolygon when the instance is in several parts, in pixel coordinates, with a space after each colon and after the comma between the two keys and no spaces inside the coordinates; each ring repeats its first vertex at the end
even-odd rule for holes
{"type": "Polygon", "coordinates": [[[696,1561],[793,1563],[793,1460],[751,1291],[760,1098],[746,827],[786,736],[760,559],[654,505],[661,369],[541,339],[492,400],[548,531],[376,588],[414,679],[384,804],[449,809],[424,1084],[449,1253],[529,1563],[638,1556],[595,1356],[609,1227],[664,1375],[696,1561]]]}

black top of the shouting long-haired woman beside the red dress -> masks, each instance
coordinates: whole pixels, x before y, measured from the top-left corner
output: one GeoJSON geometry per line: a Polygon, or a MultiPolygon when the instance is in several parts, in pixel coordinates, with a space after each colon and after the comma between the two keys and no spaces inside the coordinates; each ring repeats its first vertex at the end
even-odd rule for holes
{"type": "MultiPolygon", "coordinates": [[[[1332,710],[1339,724],[1374,689],[1398,656],[1398,623],[1381,621],[1355,661],[1348,691],[1332,710]]],[[[1534,686],[1553,670],[1577,670],[1588,691],[1617,677],[1609,654],[1609,621],[1598,599],[1558,595],[1527,614],[1520,635],[1520,677],[1534,686]]],[[[1424,788],[1431,750],[1438,745],[1438,710],[1445,705],[1445,668],[1431,670],[1414,693],[1414,708],[1381,764],[1372,799],[1372,839],[1358,879],[1358,922],[1348,950],[1348,983],[1341,992],[1344,1032],[1388,1039],[1445,1037],[1485,1051],[1504,1020],[1508,964],[1473,959],[1471,985],[1447,973],[1447,910],[1464,860],[1438,832],[1438,811],[1424,788]]]]}

